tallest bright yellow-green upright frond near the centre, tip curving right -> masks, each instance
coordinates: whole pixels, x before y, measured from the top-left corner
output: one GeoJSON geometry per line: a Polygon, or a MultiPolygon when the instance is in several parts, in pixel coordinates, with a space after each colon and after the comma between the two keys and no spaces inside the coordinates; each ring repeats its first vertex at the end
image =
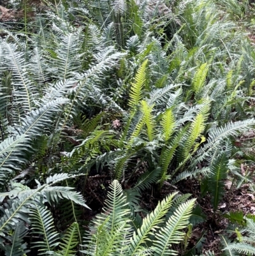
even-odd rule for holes
{"type": "Polygon", "coordinates": [[[135,107],[138,106],[138,103],[142,100],[143,87],[146,81],[147,63],[148,60],[146,59],[138,69],[138,72],[136,73],[135,82],[131,84],[129,93],[130,99],[128,104],[132,109],[135,109],[135,107]]]}

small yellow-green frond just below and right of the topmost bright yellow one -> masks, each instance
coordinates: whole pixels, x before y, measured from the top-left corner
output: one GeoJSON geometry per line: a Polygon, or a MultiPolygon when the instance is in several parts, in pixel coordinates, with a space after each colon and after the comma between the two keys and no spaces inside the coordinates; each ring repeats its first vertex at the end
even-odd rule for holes
{"type": "Polygon", "coordinates": [[[152,115],[153,106],[149,106],[145,100],[141,102],[143,121],[147,126],[147,135],[150,141],[155,139],[156,136],[156,122],[154,121],[154,116],[152,115]]]}

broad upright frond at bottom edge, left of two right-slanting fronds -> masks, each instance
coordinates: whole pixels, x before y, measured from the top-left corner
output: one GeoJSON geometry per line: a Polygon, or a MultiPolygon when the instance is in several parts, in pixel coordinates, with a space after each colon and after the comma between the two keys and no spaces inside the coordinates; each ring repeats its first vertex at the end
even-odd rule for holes
{"type": "Polygon", "coordinates": [[[94,225],[85,237],[85,250],[88,255],[123,255],[131,236],[126,197],[117,180],[110,185],[103,213],[93,221],[94,225]],[[92,236],[91,236],[92,234],[92,236]]]}

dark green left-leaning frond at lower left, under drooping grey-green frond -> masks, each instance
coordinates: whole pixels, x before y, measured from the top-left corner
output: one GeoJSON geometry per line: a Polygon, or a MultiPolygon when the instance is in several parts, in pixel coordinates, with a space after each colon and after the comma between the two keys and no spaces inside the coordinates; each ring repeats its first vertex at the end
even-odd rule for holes
{"type": "Polygon", "coordinates": [[[55,231],[54,219],[46,207],[35,204],[30,211],[32,232],[40,234],[43,238],[43,241],[34,242],[34,247],[39,248],[39,254],[43,255],[59,245],[59,234],[55,231]]]}

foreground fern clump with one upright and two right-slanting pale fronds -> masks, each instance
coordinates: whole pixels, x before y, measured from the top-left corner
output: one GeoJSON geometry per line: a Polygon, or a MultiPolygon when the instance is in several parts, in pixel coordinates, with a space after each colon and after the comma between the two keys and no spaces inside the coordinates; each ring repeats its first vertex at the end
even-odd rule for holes
{"type": "Polygon", "coordinates": [[[173,208],[176,195],[172,193],[159,202],[137,227],[132,225],[136,216],[131,213],[119,182],[113,181],[103,213],[85,235],[82,252],[87,255],[176,255],[171,245],[184,240],[183,230],[195,203],[194,199],[184,200],[173,208]]]}

